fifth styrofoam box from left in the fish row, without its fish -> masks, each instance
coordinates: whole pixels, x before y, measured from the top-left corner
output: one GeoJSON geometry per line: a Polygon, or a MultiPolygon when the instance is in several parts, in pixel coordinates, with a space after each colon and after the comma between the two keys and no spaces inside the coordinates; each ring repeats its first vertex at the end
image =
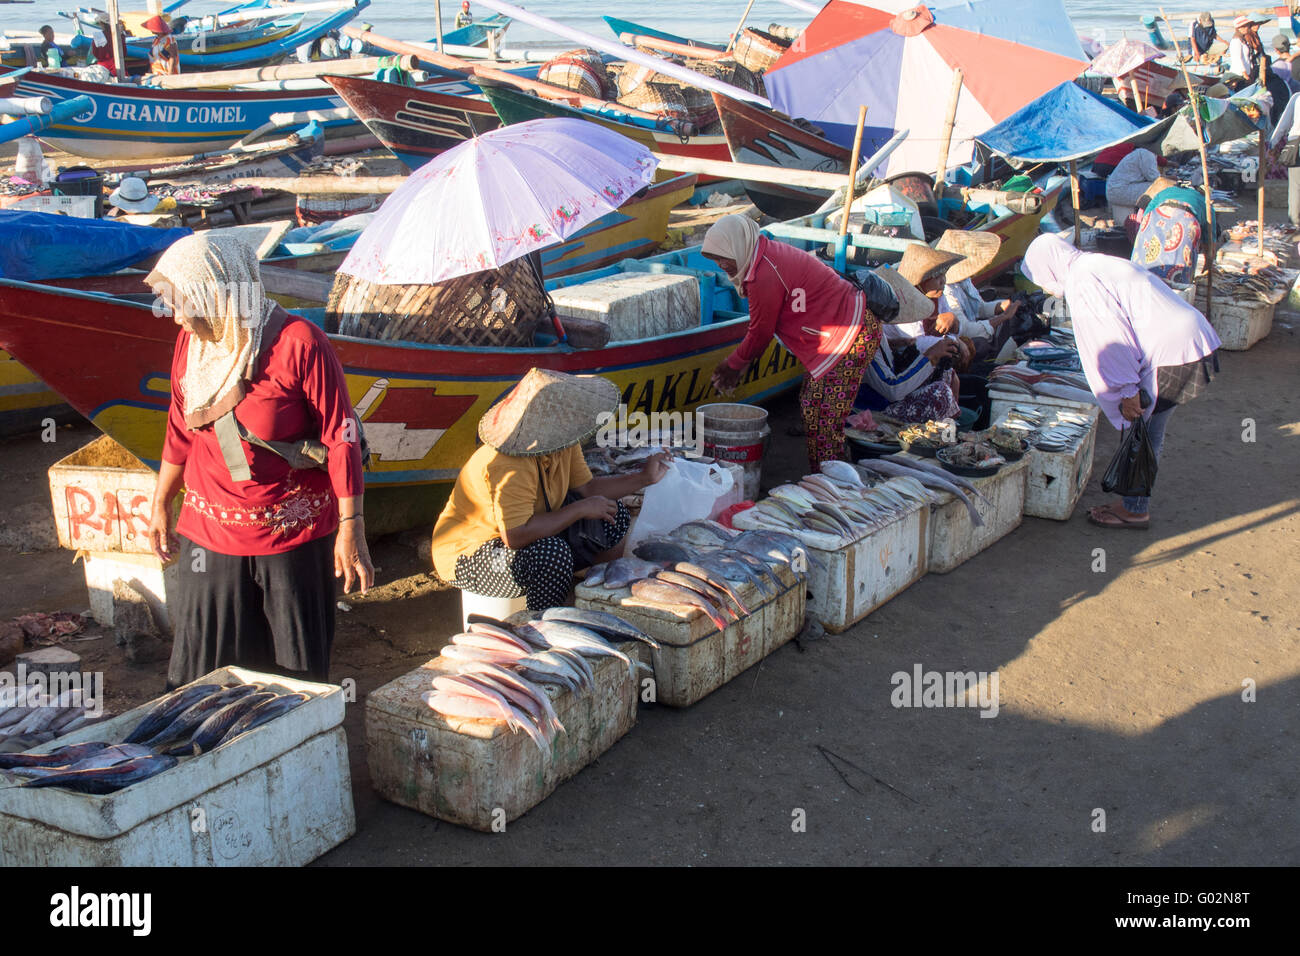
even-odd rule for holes
{"type": "MultiPolygon", "coordinates": [[[[946,574],[975,557],[994,541],[1010,535],[1024,518],[1024,484],[1030,463],[1004,464],[996,475],[970,479],[988,501],[971,496],[983,527],[976,528],[966,506],[950,492],[936,492],[939,503],[931,505],[928,568],[946,574]]],[[[967,492],[967,494],[970,494],[967,492]]]]}

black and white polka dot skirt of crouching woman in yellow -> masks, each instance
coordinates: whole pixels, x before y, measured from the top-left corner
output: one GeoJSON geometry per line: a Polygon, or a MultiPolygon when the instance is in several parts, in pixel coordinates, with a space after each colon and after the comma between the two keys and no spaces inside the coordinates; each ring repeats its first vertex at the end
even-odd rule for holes
{"type": "MultiPolygon", "coordinates": [[[[604,548],[614,548],[621,541],[630,524],[632,515],[620,503],[614,523],[602,523],[604,548]]],[[[494,537],[473,554],[462,554],[456,559],[452,584],[486,597],[526,596],[528,610],[543,611],[568,601],[573,571],[573,549],[563,537],[543,537],[519,550],[494,537]]]]}

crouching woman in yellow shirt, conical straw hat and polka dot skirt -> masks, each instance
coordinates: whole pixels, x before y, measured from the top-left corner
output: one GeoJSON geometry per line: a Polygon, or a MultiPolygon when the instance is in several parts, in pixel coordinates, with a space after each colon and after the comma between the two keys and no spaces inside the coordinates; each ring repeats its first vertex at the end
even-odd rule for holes
{"type": "Polygon", "coordinates": [[[433,529],[433,566],[458,588],[564,604],[573,572],[618,557],[632,518],[619,498],[653,485],[666,458],[640,472],[593,477],[581,444],[619,390],[595,375],[534,368],[478,423],[484,445],[460,470],[433,529]]]}

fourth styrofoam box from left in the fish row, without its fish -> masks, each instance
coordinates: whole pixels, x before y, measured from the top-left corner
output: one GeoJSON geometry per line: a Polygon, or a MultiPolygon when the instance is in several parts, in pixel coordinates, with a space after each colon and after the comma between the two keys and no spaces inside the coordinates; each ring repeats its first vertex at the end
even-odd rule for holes
{"type": "MultiPolygon", "coordinates": [[[[853,627],[926,574],[930,510],[914,507],[857,541],[790,531],[809,549],[807,613],[831,633],[853,627]]],[[[758,527],[744,511],[732,523],[758,527]]]]}

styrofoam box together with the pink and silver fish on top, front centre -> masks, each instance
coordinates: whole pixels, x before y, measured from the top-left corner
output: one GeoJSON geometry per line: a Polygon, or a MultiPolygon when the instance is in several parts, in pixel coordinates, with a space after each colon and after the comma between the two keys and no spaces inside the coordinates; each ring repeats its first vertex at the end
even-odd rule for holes
{"type": "Polygon", "coordinates": [[[437,658],[367,697],[382,797],[499,832],[632,730],[637,630],[572,607],[543,617],[472,620],[437,658]]]}

